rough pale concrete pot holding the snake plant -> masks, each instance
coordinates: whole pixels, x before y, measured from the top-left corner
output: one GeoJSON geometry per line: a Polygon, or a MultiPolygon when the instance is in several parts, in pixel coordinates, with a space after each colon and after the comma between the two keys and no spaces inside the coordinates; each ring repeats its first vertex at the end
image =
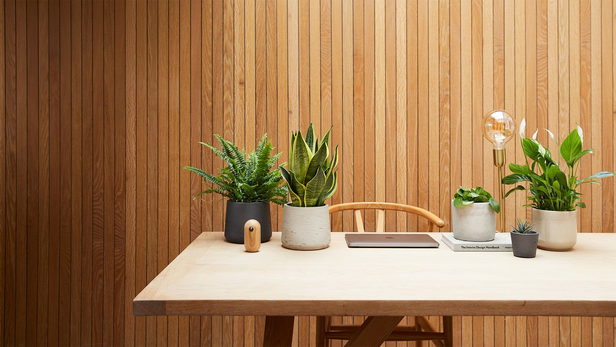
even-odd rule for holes
{"type": "Polygon", "coordinates": [[[291,250],[321,250],[331,241],[330,206],[282,209],[282,245],[291,250]]]}

